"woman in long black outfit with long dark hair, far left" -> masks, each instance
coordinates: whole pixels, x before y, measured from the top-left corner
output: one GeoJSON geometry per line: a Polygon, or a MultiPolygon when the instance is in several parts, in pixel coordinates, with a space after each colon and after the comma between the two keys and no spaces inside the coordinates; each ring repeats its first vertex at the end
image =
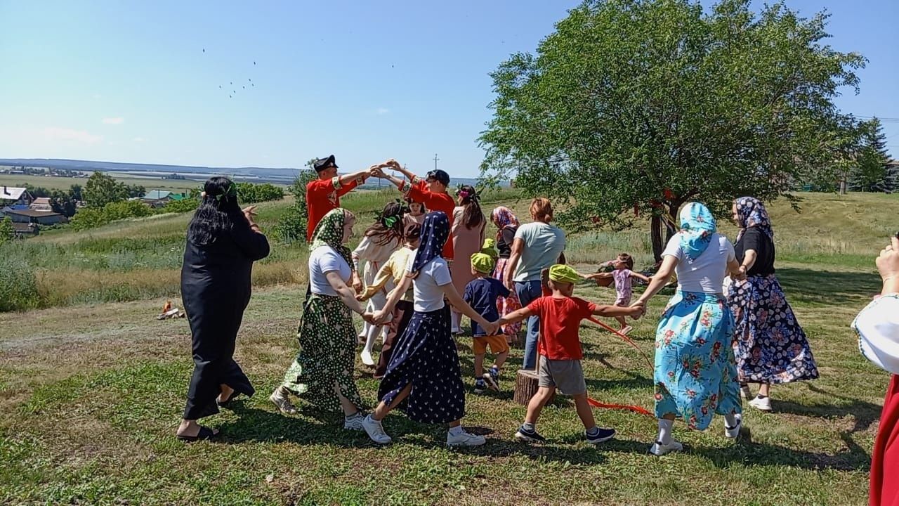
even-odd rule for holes
{"type": "Polygon", "coordinates": [[[211,177],[187,230],[181,294],[191,324],[193,376],[177,437],[208,439],[218,430],[197,420],[218,413],[253,385],[234,361],[237,330],[250,302],[253,262],[269,254],[269,242],[253,220],[254,206],[241,211],[237,187],[211,177]]]}

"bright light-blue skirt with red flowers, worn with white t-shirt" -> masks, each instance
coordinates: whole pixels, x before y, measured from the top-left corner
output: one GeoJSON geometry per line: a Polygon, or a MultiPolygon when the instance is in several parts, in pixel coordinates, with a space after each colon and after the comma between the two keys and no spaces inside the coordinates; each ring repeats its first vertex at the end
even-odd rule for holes
{"type": "Polygon", "coordinates": [[[742,411],[734,318],[719,294],[678,292],[655,333],[655,416],[706,429],[715,413],[742,411]]]}

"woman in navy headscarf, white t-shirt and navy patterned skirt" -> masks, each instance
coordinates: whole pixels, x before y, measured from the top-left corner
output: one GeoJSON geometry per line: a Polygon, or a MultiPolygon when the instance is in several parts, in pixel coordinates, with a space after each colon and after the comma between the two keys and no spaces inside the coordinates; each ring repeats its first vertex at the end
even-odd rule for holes
{"type": "Polygon", "coordinates": [[[412,320],[396,339],[387,373],[378,387],[378,408],[362,427],[375,442],[387,444],[381,420],[395,408],[405,411],[411,420],[424,423],[449,423],[447,445],[473,447],[483,445],[483,436],[467,433],[461,426],[465,415],[465,389],[458,366],[456,343],[449,329],[449,305],[494,333],[496,325],[486,321],[462,299],[452,284],[449,267],[441,257],[449,237],[449,218],[441,211],[424,218],[420,245],[403,283],[390,294],[387,303],[374,314],[376,321],[389,318],[396,302],[414,288],[412,320]]]}

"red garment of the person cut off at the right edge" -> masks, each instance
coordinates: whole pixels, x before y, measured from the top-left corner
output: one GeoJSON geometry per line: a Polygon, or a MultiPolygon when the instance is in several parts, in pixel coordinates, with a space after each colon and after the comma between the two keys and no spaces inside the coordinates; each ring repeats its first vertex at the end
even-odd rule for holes
{"type": "Polygon", "coordinates": [[[886,389],[871,455],[870,506],[899,506],[899,375],[886,389]]]}

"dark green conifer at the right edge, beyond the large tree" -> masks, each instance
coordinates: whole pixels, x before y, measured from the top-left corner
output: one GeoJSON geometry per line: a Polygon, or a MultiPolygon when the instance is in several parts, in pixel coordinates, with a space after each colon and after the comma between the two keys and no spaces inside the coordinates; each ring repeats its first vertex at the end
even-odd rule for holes
{"type": "Polygon", "coordinates": [[[877,118],[863,123],[862,147],[849,177],[850,190],[856,192],[892,192],[895,173],[887,167],[884,125],[877,118]]]}

